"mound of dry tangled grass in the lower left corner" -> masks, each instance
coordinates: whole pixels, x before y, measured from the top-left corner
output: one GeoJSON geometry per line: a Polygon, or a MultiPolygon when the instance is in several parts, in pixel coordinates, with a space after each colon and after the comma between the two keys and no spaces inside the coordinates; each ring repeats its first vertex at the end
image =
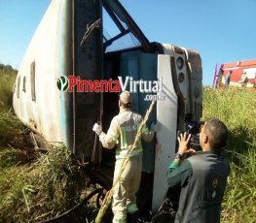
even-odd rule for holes
{"type": "MultiPolygon", "coordinates": [[[[5,169],[0,176],[0,219],[36,222],[76,206],[88,183],[83,168],[66,147],[57,146],[29,166],[5,169]]],[[[88,213],[84,208],[76,219],[88,213]]]]}

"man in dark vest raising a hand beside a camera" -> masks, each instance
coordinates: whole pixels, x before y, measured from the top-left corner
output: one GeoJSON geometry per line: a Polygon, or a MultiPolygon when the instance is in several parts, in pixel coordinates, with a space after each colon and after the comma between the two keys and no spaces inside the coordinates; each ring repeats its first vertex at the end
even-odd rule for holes
{"type": "Polygon", "coordinates": [[[175,222],[220,222],[229,175],[228,163],[222,155],[228,129],[218,118],[205,121],[200,133],[200,152],[188,147],[190,138],[186,133],[178,137],[178,152],[167,173],[170,187],[181,186],[175,222]],[[190,157],[185,158],[186,155],[190,157]]]}

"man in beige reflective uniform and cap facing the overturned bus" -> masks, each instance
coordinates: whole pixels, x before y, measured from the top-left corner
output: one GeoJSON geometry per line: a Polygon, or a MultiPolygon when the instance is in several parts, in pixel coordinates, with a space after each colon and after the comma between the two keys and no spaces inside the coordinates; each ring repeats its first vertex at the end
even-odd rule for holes
{"type": "MultiPolygon", "coordinates": [[[[137,130],[143,117],[136,112],[131,112],[131,96],[128,91],[121,93],[118,103],[120,112],[112,119],[107,134],[102,132],[101,125],[96,123],[92,130],[99,136],[99,141],[105,148],[111,149],[117,144],[114,182],[120,173],[124,158],[128,155],[128,163],[114,189],[112,203],[113,222],[126,222],[127,212],[133,214],[138,210],[136,193],[139,189],[142,170],[143,148],[141,140],[139,139],[129,154],[128,149],[135,141],[137,130]]],[[[143,126],[141,131],[142,139],[146,142],[151,142],[154,138],[154,133],[159,128],[158,126],[158,124],[152,125],[151,131],[146,125],[143,126]]]]}

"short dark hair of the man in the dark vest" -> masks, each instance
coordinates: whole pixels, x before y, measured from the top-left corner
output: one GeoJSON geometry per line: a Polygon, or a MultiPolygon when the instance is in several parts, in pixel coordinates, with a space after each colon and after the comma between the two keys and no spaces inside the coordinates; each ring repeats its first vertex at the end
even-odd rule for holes
{"type": "Polygon", "coordinates": [[[212,117],[204,122],[205,133],[208,135],[211,149],[216,153],[221,153],[228,141],[228,128],[218,118],[212,117]]]}

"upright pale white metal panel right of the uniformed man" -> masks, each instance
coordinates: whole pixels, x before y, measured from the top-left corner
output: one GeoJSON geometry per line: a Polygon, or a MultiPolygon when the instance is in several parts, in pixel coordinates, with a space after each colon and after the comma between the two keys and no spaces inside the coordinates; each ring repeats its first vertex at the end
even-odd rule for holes
{"type": "Polygon", "coordinates": [[[168,189],[166,182],[167,167],[172,161],[176,147],[177,96],[171,78],[170,56],[158,56],[158,79],[163,78],[164,101],[158,101],[157,119],[162,124],[157,133],[158,145],[155,158],[152,211],[156,212],[165,200],[168,189]]]}

